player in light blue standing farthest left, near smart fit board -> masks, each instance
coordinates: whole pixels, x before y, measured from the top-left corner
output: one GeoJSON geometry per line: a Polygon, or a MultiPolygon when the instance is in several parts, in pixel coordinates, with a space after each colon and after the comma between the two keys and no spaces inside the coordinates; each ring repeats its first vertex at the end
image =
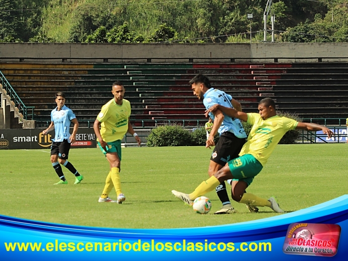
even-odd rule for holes
{"type": "Polygon", "coordinates": [[[56,93],[56,103],[57,107],[51,111],[51,124],[42,132],[42,134],[45,135],[52,130],[55,131],[55,136],[51,145],[51,163],[61,179],[59,182],[55,183],[55,185],[68,184],[68,181],[63,174],[61,164],[75,175],[74,184],[79,184],[81,183],[81,180],[84,179],[84,176],[80,175],[74,166],[68,162],[70,146],[71,143],[76,141],[79,122],[76,119],[74,112],[64,105],[64,92],[60,91],[56,93]],[[69,129],[71,122],[74,124],[74,130],[70,135],[69,129]]]}

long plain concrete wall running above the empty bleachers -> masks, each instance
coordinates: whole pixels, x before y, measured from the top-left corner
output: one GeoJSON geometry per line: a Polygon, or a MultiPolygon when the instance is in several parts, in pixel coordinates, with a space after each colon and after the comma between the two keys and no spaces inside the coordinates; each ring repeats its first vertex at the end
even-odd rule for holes
{"type": "MultiPolygon", "coordinates": [[[[127,62],[127,59],[162,58],[171,62],[188,59],[272,59],[348,58],[348,43],[233,43],[233,44],[78,44],[78,43],[0,43],[0,61],[18,62],[127,62]],[[29,58],[35,58],[30,60],[29,58]],[[40,59],[42,58],[42,59],[40,59]],[[51,59],[47,59],[51,58],[51,59]],[[85,58],[73,59],[72,58],[85,58]],[[90,60],[88,58],[91,58],[90,60]],[[95,59],[99,58],[98,61],[95,59]],[[56,60],[54,60],[56,59],[56,60]],[[174,60],[175,59],[175,60],[174,60]],[[180,60],[181,59],[181,60],[180,60]]],[[[140,60],[141,61],[141,60],[140,60]]],[[[140,62],[137,60],[136,62],[140,62]]],[[[196,60],[194,60],[197,62],[196,60]]],[[[324,60],[323,60],[324,61],[324,60]]],[[[153,60],[154,62],[154,60],[153,60]]]]}

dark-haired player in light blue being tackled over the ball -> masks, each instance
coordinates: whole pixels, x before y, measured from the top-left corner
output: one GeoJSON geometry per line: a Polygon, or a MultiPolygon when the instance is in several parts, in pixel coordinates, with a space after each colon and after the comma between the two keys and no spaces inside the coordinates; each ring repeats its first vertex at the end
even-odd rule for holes
{"type": "MultiPolygon", "coordinates": [[[[203,100],[206,109],[209,109],[214,104],[220,104],[242,111],[242,106],[237,100],[224,91],[211,87],[210,81],[206,76],[201,74],[196,75],[189,84],[191,85],[193,94],[197,96],[198,99],[203,100]]],[[[238,154],[246,142],[247,135],[241,121],[237,118],[232,118],[222,113],[220,110],[211,112],[209,117],[213,119],[214,125],[207,138],[206,148],[210,149],[211,146],[215,145],[214,136],[216,133],[220,135],[219,141],[213,149],[210,158],[208,174],[212,176],[222,169],[228,161],[239,157],[238,154]]],[[[216,211],[215,214],[234,213],[235,210],[228,197],[225,181],[222,181],[221,184],[216,187],[216,192],[222,202],[222,208],[216,211]]],[[[249,208],[249,210],[252,212],[258,211],[256,208],[249,208]]]]}

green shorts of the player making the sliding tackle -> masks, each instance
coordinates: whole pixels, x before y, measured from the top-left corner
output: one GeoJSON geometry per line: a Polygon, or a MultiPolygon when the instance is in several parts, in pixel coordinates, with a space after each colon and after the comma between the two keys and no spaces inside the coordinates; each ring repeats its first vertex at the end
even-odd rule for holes
{"type": "Polygon", "coordinates": [[[248,186],[262,170],[261,163],[251,154],[245,154],[228,162],[233,180],[243,180],[248,186]]]}

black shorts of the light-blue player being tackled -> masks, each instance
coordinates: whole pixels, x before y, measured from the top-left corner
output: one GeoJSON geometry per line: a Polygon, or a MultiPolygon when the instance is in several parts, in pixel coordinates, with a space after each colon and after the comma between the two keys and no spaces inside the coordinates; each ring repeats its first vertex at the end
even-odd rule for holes
{"type": "Polygon", "coordinates": [[[224,132],[221,134],[210,160],[225,166],[228,161],[239,157],[238,154],[245,142],[246,138],[237,138],[232,132],[224,132]]]}

